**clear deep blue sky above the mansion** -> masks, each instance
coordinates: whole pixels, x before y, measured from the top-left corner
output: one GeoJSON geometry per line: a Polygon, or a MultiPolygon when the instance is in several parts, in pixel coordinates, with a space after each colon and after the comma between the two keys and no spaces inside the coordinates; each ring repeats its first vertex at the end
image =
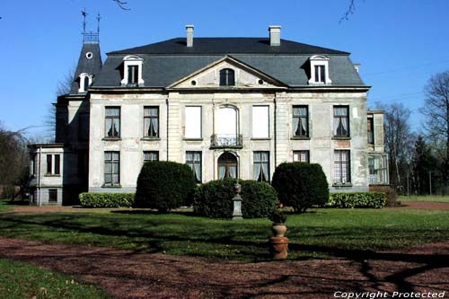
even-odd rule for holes
{"type": "Polygon", "coordinates": [[[351,53],[365,84],[368,106],[401,102],[411,110],[412,128],[423,117],[424,86],[449,69],[449,1],[355,0],[348,20],[339,22],[349,0],[2,0],[0,9],[0,122],[44,136],[44,119],[56,101],[57,84],[75,69],[87,30],[101,14],[101,53],[185,37],[281,37],[351,53]]]}

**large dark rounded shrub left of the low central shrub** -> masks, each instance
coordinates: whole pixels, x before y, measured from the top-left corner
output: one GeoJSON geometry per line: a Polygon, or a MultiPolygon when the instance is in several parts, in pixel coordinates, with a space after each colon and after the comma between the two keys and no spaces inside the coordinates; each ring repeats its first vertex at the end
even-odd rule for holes
{"type": "Polygon", "coordinates": [[[196,187],[193,171],[186,164],[170,161],[147,162],[137,178],[133,207],[167,212],[188,206],[196,187]]]}

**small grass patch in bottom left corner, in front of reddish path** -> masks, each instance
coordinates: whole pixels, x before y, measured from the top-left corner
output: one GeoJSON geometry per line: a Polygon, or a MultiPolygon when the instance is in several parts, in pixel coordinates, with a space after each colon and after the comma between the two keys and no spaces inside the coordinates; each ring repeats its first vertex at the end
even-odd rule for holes
{"type": "Polygon", "coordinates": [[[110,298],[96,286],[24,262],[0,259],[0,298],[110,298]]]}

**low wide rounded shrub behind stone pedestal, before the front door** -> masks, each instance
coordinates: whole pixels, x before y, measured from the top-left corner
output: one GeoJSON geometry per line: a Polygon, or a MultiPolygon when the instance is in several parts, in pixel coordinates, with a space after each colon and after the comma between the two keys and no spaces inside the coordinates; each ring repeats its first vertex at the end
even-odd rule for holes
{"type": "MultiPolygon", "coordinates": [[[[211,218],[232,218],[236,181],[212,180],[199,186],[193,203],[195,212],[211,218]]],[[[278,203],[275,189],[255,180],[239,180],[239,183],[243,218],[268,217],[278,203]]]]}

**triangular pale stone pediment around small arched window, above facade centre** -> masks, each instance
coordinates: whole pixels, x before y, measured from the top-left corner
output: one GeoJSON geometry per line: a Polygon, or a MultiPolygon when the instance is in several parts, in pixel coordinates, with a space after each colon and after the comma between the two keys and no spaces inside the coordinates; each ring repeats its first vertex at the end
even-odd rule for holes
{"type": "Polygon", "coordinates": [[[242,63],[233,57],[223,57],[198,71],[187,75],[168,86],[172,89],[204,88],[285,88],[286,84],[260,72],[258,69],[242,63]],[[228,68],[234,72],[233,86],[220,86],[220,71],[228,68]]]}

